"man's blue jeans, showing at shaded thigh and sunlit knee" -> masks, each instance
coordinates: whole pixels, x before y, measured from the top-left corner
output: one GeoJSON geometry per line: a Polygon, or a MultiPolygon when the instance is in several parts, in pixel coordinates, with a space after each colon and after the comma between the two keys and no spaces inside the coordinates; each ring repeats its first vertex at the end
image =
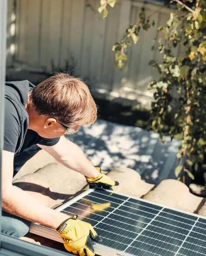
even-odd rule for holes
{"type": "MultiPolygon", "coordinates": [[[[31,157],[34,156],[39,150],[40,147],[33,145],[20,154],[15,155],[14,157],[14,175],[20,170],[20,168],[28,161],[31,157]]],[[[14,176],[13,175],[13,176],[14,176]]],[[[11,235],[16,238],[20,238],[26,235],[30,229],[31,222],[27,221],[21,217],[9,214],[2,211],[1,216],[1,232],[6,235],[11,235]]]]}

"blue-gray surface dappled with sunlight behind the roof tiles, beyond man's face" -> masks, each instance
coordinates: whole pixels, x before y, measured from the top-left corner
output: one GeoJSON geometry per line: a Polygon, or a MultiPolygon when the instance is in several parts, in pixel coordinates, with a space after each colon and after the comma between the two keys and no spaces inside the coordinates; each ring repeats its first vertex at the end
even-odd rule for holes
{"type": "Polygon", "coordinates": [[[67,138],[78,144],[93,164],[103,170],[132,168],[151,183],[168,178],[177,163],[178,140],[171,142],[166,138],[162,144],[157,133],[139,127],[98,120],[67,138]]]}

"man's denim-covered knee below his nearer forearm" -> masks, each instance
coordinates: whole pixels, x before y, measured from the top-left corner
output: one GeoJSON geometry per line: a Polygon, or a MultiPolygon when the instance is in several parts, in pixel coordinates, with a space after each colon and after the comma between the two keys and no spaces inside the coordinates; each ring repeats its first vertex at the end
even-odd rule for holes
{"type": "Polygon", "coordinates": [[[20,238],[29,232],[30,222],[21,218],[1,217],[1,232],[20,238]]]}

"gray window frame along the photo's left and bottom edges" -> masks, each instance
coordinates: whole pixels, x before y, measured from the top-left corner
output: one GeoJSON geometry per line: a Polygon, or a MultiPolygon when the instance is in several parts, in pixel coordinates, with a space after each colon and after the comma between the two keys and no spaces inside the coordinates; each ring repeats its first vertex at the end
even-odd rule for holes
{"type": "MultiPolygon", "coordinates": [[[[1,162],[3,150],[4,131],[4,91],[6,76],[6,40],[7,40],[7,0],[0,0],[0,217],[1,208],[1,162]]],[[[62,244],[63,246],[63,244],[62,244]]],[[[36,245],[30,242],[13,238],[0,233],[0,256],[73,256],[69,252],[62,252],[46,246],[36,245]]]]}

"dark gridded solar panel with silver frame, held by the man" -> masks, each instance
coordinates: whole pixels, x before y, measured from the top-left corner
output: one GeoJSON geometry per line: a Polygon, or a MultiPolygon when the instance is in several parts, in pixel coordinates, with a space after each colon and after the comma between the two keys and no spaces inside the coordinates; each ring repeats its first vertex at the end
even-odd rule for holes
{"type": "MultiPolygon", "coordinates": [[[[78,214],[103,238],[101,256],[205,256],[206,218],[135,199],[88,189],[57,209],[78,214]]],[[[62,242],[56,231],[33,224],[31,232],[62,242]]]]}

